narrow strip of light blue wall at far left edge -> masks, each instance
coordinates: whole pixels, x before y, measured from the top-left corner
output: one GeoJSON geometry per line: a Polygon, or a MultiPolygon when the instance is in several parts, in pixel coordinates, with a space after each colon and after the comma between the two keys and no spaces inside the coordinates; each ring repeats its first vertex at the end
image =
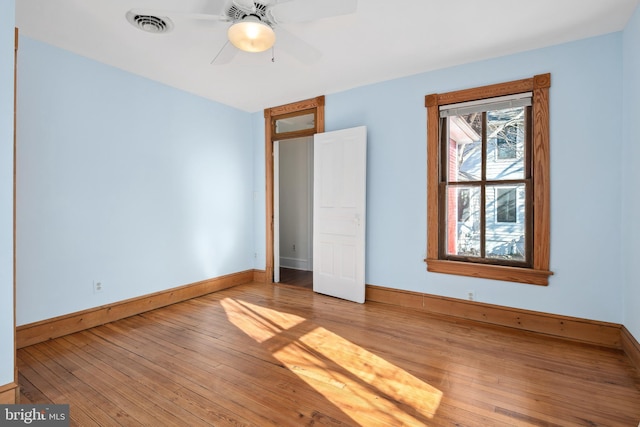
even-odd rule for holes
{"type": "Polygon", "coordinates": [[[0,386],[14,381],[13,46],[15,0],[0,1],[0,386]]]}

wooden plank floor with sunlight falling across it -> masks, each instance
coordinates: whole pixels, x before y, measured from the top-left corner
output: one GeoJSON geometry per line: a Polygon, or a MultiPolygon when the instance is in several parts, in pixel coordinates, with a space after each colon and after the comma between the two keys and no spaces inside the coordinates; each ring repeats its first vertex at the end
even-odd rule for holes
{"type": "Polygon", "coordinates": [[[624,426],[618,350],[250,284],[18,350],[78,426],[624,426]]]}

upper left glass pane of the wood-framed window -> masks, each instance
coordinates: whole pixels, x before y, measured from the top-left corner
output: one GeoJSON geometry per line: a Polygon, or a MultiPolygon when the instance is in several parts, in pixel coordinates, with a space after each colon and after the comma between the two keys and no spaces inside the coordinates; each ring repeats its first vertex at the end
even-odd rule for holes
{"type": "Polygon", "coordinates": [[[482,113],[447,118],[449,181],[478,181],[482,178],[482,113]]]}

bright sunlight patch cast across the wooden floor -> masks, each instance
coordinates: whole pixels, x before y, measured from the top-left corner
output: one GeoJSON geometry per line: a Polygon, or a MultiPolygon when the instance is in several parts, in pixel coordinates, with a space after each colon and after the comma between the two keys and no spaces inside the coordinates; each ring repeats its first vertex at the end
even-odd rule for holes
{"type": "Polygon", "coordinates": [[[363,425],[432,419],[442,392],[303,317],[226,298],[227,318],[291,372],[363,425]]]}

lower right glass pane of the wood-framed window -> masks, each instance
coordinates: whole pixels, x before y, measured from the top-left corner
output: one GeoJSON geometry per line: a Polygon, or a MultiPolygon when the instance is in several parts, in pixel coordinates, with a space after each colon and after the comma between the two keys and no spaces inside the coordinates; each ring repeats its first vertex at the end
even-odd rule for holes
{"type": "Polygon", "coordinates": [[[525,261],[525,185],[487,186],[487,258],[525,261]]]}

